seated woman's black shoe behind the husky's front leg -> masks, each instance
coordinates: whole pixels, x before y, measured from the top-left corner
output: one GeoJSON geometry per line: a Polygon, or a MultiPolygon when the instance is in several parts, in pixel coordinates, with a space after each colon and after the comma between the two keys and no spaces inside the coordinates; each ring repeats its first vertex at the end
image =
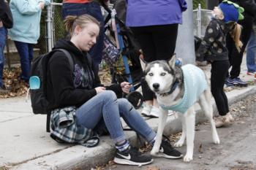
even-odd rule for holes
{"type": "Polygon", "coordinates": [[[183,157],[181,152],[178,152],[178,150],[172,147],[168,139],[162,139],[159,152],[157,153],[156,156],[165,157],[169,159],[179,159],[183,157]]]}

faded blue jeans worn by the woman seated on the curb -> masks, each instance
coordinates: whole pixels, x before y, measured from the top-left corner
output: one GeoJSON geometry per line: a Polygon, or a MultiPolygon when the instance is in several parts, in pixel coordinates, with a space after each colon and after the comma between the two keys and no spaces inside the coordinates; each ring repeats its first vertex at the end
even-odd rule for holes
{"type": "Polygon", "coordinates": [[[76,123],[86,128],[93,129],[99,120],[105,122],[110,133],[110,137],[115,143],[126,139],[121,125],[122,117],[132,130],[151,142],[156,133],[148,126],[139,113],[132,107],[126,98],[116,98],[116,94],[111,90],[99,93],[89,101],[79,107],[75,113],[76,123]]]}

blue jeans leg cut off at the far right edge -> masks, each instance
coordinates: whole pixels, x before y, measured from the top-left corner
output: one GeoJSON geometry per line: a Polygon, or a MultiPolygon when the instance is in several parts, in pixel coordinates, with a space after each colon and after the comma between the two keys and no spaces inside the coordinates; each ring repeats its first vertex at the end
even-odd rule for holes
{"type": "Polygon", "coordinates": [[[247,65],[248,72],[256,72],[255,55],[256,55],[256,35],[255,35],[255,32],[252,31],[252,34],[249,38],[249,42],[247,45],[247,53],[246,53],[246,65],[247,65]]]}

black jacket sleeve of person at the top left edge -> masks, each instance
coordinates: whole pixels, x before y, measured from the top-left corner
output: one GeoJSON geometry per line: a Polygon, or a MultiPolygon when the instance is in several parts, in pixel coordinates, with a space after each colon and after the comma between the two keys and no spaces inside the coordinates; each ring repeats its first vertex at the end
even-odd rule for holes
{"type": "Polygon", "coordinates": [[[12,13],[9,5],[4,0],[0,0],[0,20],[5,28],[12,28],[12,13]]]}

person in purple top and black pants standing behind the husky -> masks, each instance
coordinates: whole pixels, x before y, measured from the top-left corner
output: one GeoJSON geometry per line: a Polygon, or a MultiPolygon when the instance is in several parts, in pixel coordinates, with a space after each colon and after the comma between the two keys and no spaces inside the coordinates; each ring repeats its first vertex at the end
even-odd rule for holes
{"type": "MultiPolygon", "coordinates": [[[[178,35],[178,24],[182,23],[182,12],[187,9],[185,0],[127,0],[126,25],[132,29],[143,51],[146,62],[172,58],[178,35]]],[[[159,117],[156,96],[141,82],[143,91],[142,114],[159,117]]]]}

